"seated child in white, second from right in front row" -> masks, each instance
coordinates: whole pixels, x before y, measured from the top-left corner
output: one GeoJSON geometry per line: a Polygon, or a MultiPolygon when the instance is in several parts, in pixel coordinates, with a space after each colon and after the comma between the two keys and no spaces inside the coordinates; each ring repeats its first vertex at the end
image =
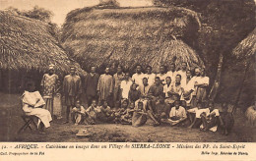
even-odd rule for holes
{"type": "Polygon", "coordinates": [[[200,129],[203,131],[216,132],[218,128],[218,122],[220,121],[220,113],[218,109],[215,109],[214,102],[210,101],[208,103],[208,108],[201,115],[201,120],[203,124],[200,129]]]}

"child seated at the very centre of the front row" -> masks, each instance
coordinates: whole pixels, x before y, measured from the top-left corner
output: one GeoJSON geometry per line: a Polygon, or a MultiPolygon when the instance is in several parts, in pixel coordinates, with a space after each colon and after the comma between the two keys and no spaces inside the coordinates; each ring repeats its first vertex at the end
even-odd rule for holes
{"type": "Polygon", "coordinates": [[[138,106],[135,107],[132,117],[132,126],[140,127],[147,122],[147,112],[143,109],[143,102],[138,102],[138,106]]]}

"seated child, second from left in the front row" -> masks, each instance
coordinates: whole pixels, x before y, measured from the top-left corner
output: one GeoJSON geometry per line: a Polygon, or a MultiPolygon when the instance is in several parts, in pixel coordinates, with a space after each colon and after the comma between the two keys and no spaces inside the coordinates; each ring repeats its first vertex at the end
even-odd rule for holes
{"type": "Polygon", "coordinates": [[[100,112],[96,108],[96,100],[92,101],[92,105],[86,110],[85,124],[96,124],[96,113],[100,112]]]}

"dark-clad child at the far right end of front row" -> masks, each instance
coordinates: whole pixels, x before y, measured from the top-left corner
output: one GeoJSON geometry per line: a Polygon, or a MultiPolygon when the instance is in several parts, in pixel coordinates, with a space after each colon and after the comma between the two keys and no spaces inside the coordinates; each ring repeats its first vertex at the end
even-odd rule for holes
{"type": "Polygon", "coordinates": [[[231,113],[227,112],[228,107],[227,103],[222,104],[223,112],[221,113],[220,120],[220,130],[223,131],[223,134],[227,135],[231,132],[234,124],[233,116],[231,113]]]}

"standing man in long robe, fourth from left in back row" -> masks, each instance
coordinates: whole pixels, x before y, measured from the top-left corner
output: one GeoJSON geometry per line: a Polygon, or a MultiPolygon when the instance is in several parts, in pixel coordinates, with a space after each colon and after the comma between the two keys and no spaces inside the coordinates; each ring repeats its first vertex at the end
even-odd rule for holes
{"type": "Polygon", "coordinates": [[[112,105],[113,93],[113,77],[109,74],[110,69],[105,68],[105,74],[100,75],[97,83],[98,104],[101,105],[102,100],[106,100],[109,106],[112,105]]]}

